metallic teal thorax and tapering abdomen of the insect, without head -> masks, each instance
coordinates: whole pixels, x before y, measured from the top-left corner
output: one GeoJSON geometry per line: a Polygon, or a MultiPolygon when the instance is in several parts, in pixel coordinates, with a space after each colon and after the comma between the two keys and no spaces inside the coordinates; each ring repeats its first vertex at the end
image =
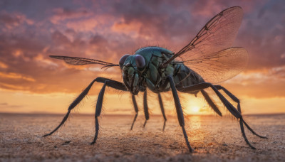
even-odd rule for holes
{"type": "Polygon", "coordinates": [[[152,90],[152,92],[170,90],[170,84],[167,81],[168,75],[173,76],[175,85],[178,87],[187,87],[204,81],[196,72],[190,70],[182,63],[177,64],[173,61],[166,68],[160,68],[162,63],[165,63],[174,55],[174,53],[165,48],[140,48],[135,52],[135,55],[142,55],[146,63],[145,70],[141,73],[140,90],[142,91],[146,87],[152,90]]]}

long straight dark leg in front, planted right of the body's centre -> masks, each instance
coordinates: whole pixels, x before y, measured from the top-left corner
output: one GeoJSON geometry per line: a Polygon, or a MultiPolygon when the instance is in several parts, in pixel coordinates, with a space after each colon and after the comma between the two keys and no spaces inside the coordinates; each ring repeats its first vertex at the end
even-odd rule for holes
{"type": "Polygon", "coordinates": [[[181,104],[180,104],[180,99],[179,99],[178,94],[177,94],[175,83],[174,83],[173,78],[171,76],[168,76],[167,79],[170,82],[170,87],[171,87],[172,95],[173,95],[173,98],[174,98],[174,101],[175,101],[175,108],[176,108],[176,113],[177,113],[177,118],[178,118],[179,124],[180,124],[180,126],[182,128],[183,135],[185,137],[185,141],[186,141],[187,147],[189,148],[189,151],[192,152],[193,148],[190,146],[190,143],[188,141],[188,136],[187,136],[187,133],[185,131],[185,127],[184,127],[185,126],[185,122],[184,122],[183,110],[182,110],[182,107],[181,107],[181,104]]]}

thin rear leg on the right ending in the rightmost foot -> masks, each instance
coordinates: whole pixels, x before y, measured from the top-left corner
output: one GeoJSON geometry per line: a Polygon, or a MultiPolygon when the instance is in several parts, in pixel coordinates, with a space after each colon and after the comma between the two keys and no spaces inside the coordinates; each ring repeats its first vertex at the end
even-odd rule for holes
{"type": "MultiPolygon", "coordinates": [[[[223,90],[229,97],[231,97],[232,100],[234,100],[234,102],[237,102],[237,110],[239,111],[240,114],[242,114],[242,109],[240,107],[240,102],[239,99],[237,97],[235,97],[234,95],[232,95],[231,92],[229,92],[226,88],[222,87],[221,85],[215,85],[214,87],[217,87],[218,90],[223,90]]],[[[239,123],[242,125],[243,123],[245,124],[245,126],[247,126],[247,129],[249,129],[249,131],[252,131],[252,134],[262,138],[262,139],[268,139],[266,136],[260,136],[259,134],[257,134],[245,121],[243,118],[241,118],[239,120],[239,123]]],[[[243,131],[243,130],[242,130],[243,131]]],[[[244,131],[243,131],[244,132],[244,131]]]]}

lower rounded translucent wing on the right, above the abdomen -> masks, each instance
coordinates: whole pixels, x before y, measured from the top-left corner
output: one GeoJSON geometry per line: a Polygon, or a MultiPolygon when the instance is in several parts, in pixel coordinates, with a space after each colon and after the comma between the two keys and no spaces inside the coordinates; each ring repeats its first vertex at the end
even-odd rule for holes
{"type": "Polygon", "coordinates": [[[244,48],[227,48],[212,55],[183,63],[197,72],[206,82],[223,82],[242,72],[249,57],[244,48]]]}

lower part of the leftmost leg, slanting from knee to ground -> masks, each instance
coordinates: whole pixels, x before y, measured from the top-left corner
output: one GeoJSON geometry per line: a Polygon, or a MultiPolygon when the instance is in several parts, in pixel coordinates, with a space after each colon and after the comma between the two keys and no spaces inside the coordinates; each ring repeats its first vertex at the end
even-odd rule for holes
{"type": "Polygon", "coordinates": [[[74,101],[71,103],[71,105],[68,107],[68,112],[66,113],[66,116],[63,117],[63,120],[61,121],[61,124],[59,124],[59,125],[56,127],[56,129],[53,129],[53,131],[51,131],[51,133],[43,135],[43,137],[45,137],[45,136],[50,136],[51,134],[53,134],[55,131],[57,131],[57,130],[64,124],[64,122],[66,121],[66,119],[68,119],[68,116],[69,116],[69,114],[71,113],[71,110],[72,110],[74,107],[76,107],[76,105],[77,105],[79,102],[81,102],[81,100],[88,94],[90,88],[92,87],[92,85],[94,84],[95,81],[96,81],[96,79],[93,80],[93,81],[90,83],[90,85],[88,85],[88,87],[86,87],[86,89],[83,90],[83,92],[81,92],[81,95],[79,95],[79,96],[76,98],[76,100],[74,100],[74,101]]]}

